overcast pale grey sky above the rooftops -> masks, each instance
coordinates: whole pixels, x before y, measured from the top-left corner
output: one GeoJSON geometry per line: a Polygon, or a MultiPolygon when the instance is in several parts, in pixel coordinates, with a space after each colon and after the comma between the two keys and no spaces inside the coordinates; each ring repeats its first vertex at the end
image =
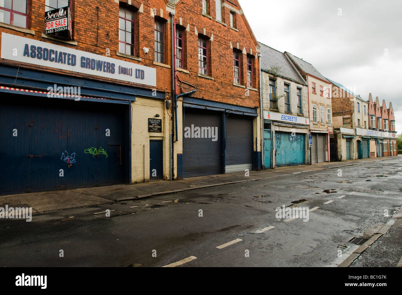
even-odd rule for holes
{"type": "Polygon", "coordinates": [[[303,58],[365,100],[371,92],[387,107],[391,101],[401,133],[402,0],[239,2],[258,41],[303,58]]]}

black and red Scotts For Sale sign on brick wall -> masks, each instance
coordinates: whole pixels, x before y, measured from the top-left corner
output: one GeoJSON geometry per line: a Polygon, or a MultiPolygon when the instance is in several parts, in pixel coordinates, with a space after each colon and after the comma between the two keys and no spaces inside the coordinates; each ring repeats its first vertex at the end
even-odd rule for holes
{"type": "Polygon", "coordinates": [[[45,12],[45,34],[65,31],[70,31],[69,37],[71,37],[71,17],[68,6],[45,12]]]}

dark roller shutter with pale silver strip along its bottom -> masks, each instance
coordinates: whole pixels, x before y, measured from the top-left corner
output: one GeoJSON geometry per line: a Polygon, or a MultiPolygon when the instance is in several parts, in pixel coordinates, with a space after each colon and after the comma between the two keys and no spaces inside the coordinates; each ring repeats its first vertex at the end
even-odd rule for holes
{"type": "Polygon", "coordinates": [[[225,172],[252,169],[253,125],[247,117],[229,114],[226,119],[225,172]]]}

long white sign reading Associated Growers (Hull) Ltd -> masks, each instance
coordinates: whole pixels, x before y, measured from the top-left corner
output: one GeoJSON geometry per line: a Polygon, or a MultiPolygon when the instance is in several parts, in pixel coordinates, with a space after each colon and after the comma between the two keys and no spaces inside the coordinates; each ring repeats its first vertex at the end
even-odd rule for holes
{"type": "Polygon", "coordinates": [[[156,86],[154,68],[7,33],[1,35],[1,58],[156,86]]]}

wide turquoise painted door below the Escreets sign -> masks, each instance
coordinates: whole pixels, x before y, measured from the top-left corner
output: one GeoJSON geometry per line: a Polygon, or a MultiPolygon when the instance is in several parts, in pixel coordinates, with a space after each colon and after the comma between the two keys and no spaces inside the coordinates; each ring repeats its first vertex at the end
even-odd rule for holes
{"type": "Polygon", "coordinates": [[[304,134],[275,132],[275,165],[276,167],[304,164],[305,141],[304,134]]]}

